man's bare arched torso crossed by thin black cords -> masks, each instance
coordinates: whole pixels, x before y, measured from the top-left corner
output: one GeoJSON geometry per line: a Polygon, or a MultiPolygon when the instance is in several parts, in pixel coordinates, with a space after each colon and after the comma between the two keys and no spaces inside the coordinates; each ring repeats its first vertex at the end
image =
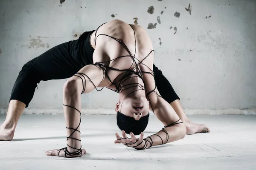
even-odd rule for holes
{"type": "MultiPolygon", "coordinates": [[[[119,70],[150,71],[147,66],[152,68],[153,45],[145,29],[141,26],[129,25],[121,20],[112,20],[94,31],[90,37],[90,42],[95,49],[93,53],[94,64],[99,62],[119,70]],[[116,38],[116,40],[109,36],[116,38]],[[142,63],[140,64],[140,62],[142,63]]],[[[111,82],[118,82],[125,71],[106,69],[106,74],[108,74],[108,78],[105,77],[98,87],[114,89],[115,86],[111,82]]]]}

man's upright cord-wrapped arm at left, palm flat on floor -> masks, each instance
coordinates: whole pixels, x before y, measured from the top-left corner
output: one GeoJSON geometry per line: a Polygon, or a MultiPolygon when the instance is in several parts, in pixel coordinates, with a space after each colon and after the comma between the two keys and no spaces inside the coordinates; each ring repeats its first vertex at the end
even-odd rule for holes
{"type": "Polygon", "coordinates": [[[96,65],[86,65],[67,80],[63,88],[64,116],[67,128],[67,147],[46,152],[49,156],[79,157],[81,149],[81,94],[93,91],[104,79],[105,72],[96,65]]]}

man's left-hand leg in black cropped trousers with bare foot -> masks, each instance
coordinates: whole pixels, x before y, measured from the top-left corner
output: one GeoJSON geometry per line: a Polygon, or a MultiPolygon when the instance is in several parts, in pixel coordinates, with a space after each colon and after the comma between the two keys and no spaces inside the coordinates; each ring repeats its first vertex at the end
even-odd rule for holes
{"type": "Polygon", "coordinates": [[[6,120],[0,126],[0,140],[12,140],[18,119],[32,100],[37,83],[65,79],[79,71],[79,57],[71,56],[74,43],[57,45],[23,66],[12,89],[6,120]]]}

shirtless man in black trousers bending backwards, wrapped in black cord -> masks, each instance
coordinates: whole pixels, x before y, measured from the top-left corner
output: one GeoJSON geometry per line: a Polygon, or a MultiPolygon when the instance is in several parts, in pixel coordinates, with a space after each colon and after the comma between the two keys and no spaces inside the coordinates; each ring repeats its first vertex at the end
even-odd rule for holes
{"type": "MultiPolygon", "coordinates": [[[[153,67],[152,49],[151,40],[141,26],[112,20],[96,31],[84,32],[79,40],[57,45],[32,59],[23,66],[15,82],[6,120],[0,127],[0,140],[12,140],[20,114],[28,107],[37,83],[41,80],[64,79],[71,76],[73,77],[64,85],[68,147],[52,150],[47,152],[47,155],[76,157],[85,153],[85,150],[81,149],[79,131],[80,94],[89,93],[96,87],[107,87],[119,92],[116,112],[121,130],[125,128],[122,124],[127,117],[133,117],[136,121],[145,120],[137,133],[142,132],[147,124],[149,109],[166,126],[154,137],[145,139],[143,134],[136,139],[134,133],[131,133],[131,139],[128,139],[125,135],[128,132],[122,131],[123,138],[116,134],[116,143],[145,149],[181,139],[185,133],[209,131],[206,125],[193,124],[186,118],[172,86],[161,71],[153,67]],[[160,97],[157,89],[170,105],[160,97]],[[171,91],[172,96],[165,95],[168,91],[171,91]]],[[[130,129],[136,130],[136,127],[130,129]]]]}

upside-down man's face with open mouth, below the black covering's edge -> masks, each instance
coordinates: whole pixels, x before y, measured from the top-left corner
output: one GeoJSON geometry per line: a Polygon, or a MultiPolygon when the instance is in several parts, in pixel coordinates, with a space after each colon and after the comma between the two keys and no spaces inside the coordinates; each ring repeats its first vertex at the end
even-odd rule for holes
{"type": "Polygon", "coordinates": [[[125,97],[122,102],[116,103],[116,112],[139,120],[146,116],[149,111],[149,102],[145,97],[125,97]]]}

